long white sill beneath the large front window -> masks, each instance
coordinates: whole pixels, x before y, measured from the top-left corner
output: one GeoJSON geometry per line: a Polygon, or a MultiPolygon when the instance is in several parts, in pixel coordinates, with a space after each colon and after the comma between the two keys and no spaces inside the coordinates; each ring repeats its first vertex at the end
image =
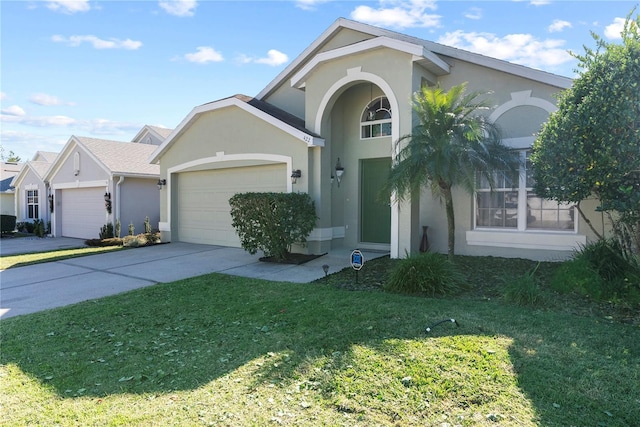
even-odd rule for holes
{"type": "Polygon", "coordinates": [[[566,232],[472,230],[467,231],[466,237],[470,246],[552,251],[577,250],[587,243],[587,236],[566,232]]]}

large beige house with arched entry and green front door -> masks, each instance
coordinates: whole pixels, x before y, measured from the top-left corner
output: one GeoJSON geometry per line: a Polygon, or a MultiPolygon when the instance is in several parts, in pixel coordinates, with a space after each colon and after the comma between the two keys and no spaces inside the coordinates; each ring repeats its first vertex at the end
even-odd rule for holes
{"type": "MultiPolygon", "coordinates": [[[[416,251],[429,226],[447,250],[443,206],[425,189],[402,205],[380,202],[394,142],[417,124],[421,86],[468,82],[491,91],[489,118],[523,159],[571,79],[345,19],[337,20],[255,98],[195,107],[150,157],[166,180],[163,241],[240,246],[228,199],[237,192],[301,191],[318,221],[307,251],[416,251]],[[290,178],[300,171],[300,177],[290,178]],[[294,182],[295,181],[295,182],[294,182]]],[[[560,259],[590,230],[570,206],[542,200],[529,174],[491,193],[457,189],[456,253],[560,259]]]]}

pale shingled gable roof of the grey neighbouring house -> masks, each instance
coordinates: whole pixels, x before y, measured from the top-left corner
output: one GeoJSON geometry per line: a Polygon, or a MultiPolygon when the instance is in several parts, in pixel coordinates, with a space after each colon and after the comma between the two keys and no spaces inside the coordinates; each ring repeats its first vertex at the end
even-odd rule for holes
{"type": "Polygon", "coordinates": [[[51,180],[59,167],[72,155],[76,148],[85,151],[109,175],[143,178],[157,178],[160,176],[160,167],[147,162],[151,153],[157,148],[155,145],[74,135],[64,146],[57,160],[48,169],[45,175],[46,180],[51,180]]]}

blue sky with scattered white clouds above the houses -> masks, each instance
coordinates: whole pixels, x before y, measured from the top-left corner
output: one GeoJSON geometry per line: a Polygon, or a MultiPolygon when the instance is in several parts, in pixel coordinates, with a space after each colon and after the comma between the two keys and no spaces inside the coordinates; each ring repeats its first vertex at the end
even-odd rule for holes
{"type": "MultiPolygon", "coordinates": [[[[130,141],[257,95],[340,17],[564,76],[638,1],[0,2],[0,140],[23,161],[71,135],[130,141]]],[[[636,11],[637,13],[637,11],[636,11]]]]}

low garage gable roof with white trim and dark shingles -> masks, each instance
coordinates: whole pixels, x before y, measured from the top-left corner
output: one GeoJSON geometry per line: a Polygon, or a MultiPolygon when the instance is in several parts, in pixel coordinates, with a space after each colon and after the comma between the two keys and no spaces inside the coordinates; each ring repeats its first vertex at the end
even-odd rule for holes
{"type": "Polygon", "coordinates": [[[167,137],[159,147],[157,147],[149,161],[151,163],[157,163],[162,154],[173,144],[173,141],[181,135],[188,126],[196,121],[201,114],[228,107],[238,107],[257,118],[276,126],[282,131],[305,142],[309,146],[324,146],[324,139],[304,127],[304,119],[296,117],[293,114],[259,99],[246,95],[234,95],[200,105],[191,110],[189,115],[187,115],[178,127],[171,132],[171,135],[167,137]]]}

